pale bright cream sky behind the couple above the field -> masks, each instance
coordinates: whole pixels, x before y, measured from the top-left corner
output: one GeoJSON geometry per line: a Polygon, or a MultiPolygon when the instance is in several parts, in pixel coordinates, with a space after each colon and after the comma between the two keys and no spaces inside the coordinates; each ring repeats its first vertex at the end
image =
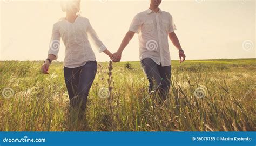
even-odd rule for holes
{"type": "MultiPolygon", "coordinates": [[[[116,52],[132,18],[149,7],[144,1],[85,1],[81,15],[90,19],[99,38],[116,52]]],[[[255,8],[251,1],[167,1],[161,10],[172,14],[186,59],[255,58],[255,8]]],[[[1,0],[0,60],[45,60],[53,23],[65,13],[60,1],[1,0]]],[[[169,40],[170,41],[170,40],[169,40]]],[[[170,41],[171,59],[178,60],[170,41]]],[[[64,60],[62,43],[58,61],[64,60]]],[[[97,61],[109,61],[95,50],[97,61]]],[[[125,48],[122,61],[139,60],[138,35],[125,48]]]]}

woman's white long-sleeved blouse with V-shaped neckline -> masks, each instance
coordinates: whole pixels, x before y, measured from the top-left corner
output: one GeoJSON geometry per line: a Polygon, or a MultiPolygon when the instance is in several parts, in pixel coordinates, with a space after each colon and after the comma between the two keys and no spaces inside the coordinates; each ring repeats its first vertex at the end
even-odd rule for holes
{"type": "Polygon", "coordinates": [[[76,68],[83,66],[88,61],[95,61],[96,57],[92,51],[88,36],[92,38],[99,52],[106,50],[95,30],[93,30],[89,19],[78,15],[75,22],[70,23],[65,18],[60,18],[57,23],[53,24],[48,54],[53,54],[56,59],[58,58],[61,37],[66,48],[65,67],[76,68]]]}

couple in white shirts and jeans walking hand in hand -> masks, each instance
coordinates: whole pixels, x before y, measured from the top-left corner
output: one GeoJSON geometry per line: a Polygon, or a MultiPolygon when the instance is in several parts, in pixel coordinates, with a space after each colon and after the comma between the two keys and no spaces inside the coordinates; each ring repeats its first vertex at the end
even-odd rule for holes
{"type": "Polygon", "coordinates": [[[116,53],[111,53],[97,36],[89,19],[79,15],[80,0],[63,1],[66,17],[53,25],[48,58],[41,68],[44,74],[53,60],[58,58],[60,38],[65,44],[64,77],[68,89],[70,107],[86,109],[87,96],[97,72],[97,62],[88,40],[90,36],[99,52],[104,52],[113,62],[119,62],[124,48],[134,34],[139,35],[139,59],[149,80],[149,94],[158,88],[158,95],[165,100],[171,84],[171,59],[168,37],[178,49],[180,63],[185,54],[174,33],[176,26],[170,13],[159,8],[161,0],[151,0],[146,11],[138,13],[132,20],[116,53]]]}

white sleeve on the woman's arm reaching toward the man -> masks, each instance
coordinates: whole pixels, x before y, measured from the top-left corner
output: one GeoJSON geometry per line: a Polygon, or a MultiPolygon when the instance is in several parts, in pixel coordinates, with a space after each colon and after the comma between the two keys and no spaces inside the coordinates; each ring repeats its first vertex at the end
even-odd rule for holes
{"type": "Polygon", "coordinates": [[[95,30],[92,28],[91,23],[89,22],[89,20],[87,20],[88,23],[88,27],[87,27],[87,33],[90,35],[90,37],[92,38],[93,44],[96,46],[97,50],[99,51],[99,53],[103,52],[106,50],[106,46],[102,43],[102,41],[99,39],[97,33],[95,32],[95,30]]]}

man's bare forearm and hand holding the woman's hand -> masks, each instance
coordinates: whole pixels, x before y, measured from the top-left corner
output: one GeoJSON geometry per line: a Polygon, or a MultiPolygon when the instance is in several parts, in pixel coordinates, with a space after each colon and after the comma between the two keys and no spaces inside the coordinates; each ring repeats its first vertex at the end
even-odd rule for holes
{"type": "Polygon", "coordinates": [[[122,52],[124,50],[124,48],[129,44],[129,42],[131,41],[131,39],[133,38],[135,32],[132,31],[128,31],[120,45],[120,47],[118,48],[116,53],[113,53],[111,59],[113,60],[113,62],[118,62],[121,59],[122,56],[122,52]]]}

